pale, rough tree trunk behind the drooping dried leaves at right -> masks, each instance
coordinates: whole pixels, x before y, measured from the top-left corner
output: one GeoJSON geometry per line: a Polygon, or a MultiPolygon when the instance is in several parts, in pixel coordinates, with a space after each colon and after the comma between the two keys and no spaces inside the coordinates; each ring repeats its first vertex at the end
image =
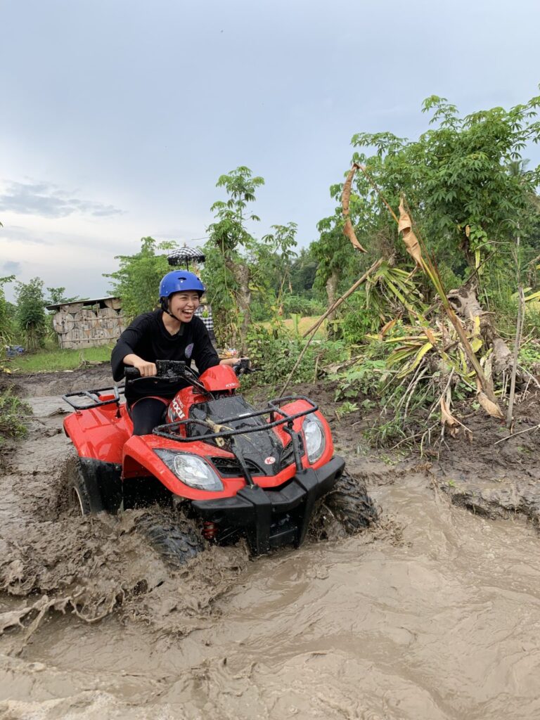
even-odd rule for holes
{"type": "Polygon", "coordinates": [[[492,322],[492,313],[486,312],[477,298],[476,279],[470,279],[462,287],[450,290],[447,297],[457,315],[464,320],[474,323],[474,318],[480,318],[480,336],[487,348],[493,348],[492,371],[494,376],[500,376],[512,366],[512,351],[503,338],[498,336],[492,322]]]}

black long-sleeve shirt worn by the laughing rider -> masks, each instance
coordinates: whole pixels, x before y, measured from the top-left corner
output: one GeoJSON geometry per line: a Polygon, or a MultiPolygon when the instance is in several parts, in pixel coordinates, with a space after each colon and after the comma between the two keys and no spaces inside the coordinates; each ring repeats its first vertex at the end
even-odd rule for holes
{"type": "MultiPolygon", "coordinates": [[[[194,317],[189,323],[182,323],[179,332],[171,335],[163,325],[162,310],[139,315],[118,338],[111,356],[112,377],[116,382],[124,377],[126,366],[123,359],[130,354],[154,363],[156,360],[183,360],[190,366],[194,360],[201,373],[220,364],[208,331],[200,318],[194,317]]],[[[174,397],[181,387],[185,387],[185,383],[176,385],[149,377],[129,383],[125,397],[129,402],[148,395],[169,398],[174,397]]]]}

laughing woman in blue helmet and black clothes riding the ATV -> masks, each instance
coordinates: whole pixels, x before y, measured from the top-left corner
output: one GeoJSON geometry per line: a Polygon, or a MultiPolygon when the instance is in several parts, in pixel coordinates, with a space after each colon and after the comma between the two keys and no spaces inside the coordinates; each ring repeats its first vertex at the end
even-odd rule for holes
{"type": "Polygon", "coordinates": [[[180,387],[156,379],[156,360],[182,360],[199,373],[215,365],[233,365],[235,358],[219,359],[207,328],[194,316],[204,293],[197,275],[183,270],[168,272],[159,285],[159,310],[144,312],[127,327],[111,356],[112,377],[119,382],[126,366],[138,369],[142,378],[125,391],[134,435],[149,435],[163,423],[169,402],[180,387]],[[153,378],[153,379],[150,379],[153,378]]]}

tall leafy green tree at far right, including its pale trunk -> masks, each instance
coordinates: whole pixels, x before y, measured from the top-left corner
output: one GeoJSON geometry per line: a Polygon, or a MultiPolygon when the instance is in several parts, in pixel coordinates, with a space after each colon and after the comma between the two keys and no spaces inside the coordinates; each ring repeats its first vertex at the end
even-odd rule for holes
{"type": "MultiPolygon", "coordinates": [[[[495,107],[462,117],[446,99],[431,96],[423,111],[431,113],[433,127],[417,140],[391,132],[361,132],[352,138],[358,148],[353,161],[364,168],[356,173],[351,194],[351,217],[361,244],[372,253],[377,244],[388,246],[398,264],[410,264],[384,202],[397,211],[404,194],[417,234],[433,253],[444,281],[451,283],[446,282],[446,291],[462,285],[449,294],[451,303],[465,318],[480,318],[486,347],[494,348],[494,372],[508,367],[511,354],[498,338],[492,316],[482,312],[477,290],[482,283],[490,297],[500,273],[508,277],[516,235],[522,250],[534,254],[540,166],[528,169],[521,153],[540,141],[539,108],[537,96],[508,110],[495,107]]],[[[433,298],[425,275],[417,274],[415,282],[426,300],[433,298]]]]}

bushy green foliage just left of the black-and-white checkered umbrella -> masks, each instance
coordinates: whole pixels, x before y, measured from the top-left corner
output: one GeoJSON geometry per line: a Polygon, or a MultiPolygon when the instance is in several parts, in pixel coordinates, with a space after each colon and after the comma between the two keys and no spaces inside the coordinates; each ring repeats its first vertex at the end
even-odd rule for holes
{"type": "Polygon", "coordinates": [[[176,248],[176,243],[158,243],[153,238],[141,238],[140,251],[135,255],[117,255],[120,268],[104,277],[112,280],[112,293],[122,298],[122,310],[129,323],[141,312],[153,310],[159,301],[159,283],[171,270],[166,251],[176,248]],[[163,251],[163,254],[158,251],[163,251]]]}

